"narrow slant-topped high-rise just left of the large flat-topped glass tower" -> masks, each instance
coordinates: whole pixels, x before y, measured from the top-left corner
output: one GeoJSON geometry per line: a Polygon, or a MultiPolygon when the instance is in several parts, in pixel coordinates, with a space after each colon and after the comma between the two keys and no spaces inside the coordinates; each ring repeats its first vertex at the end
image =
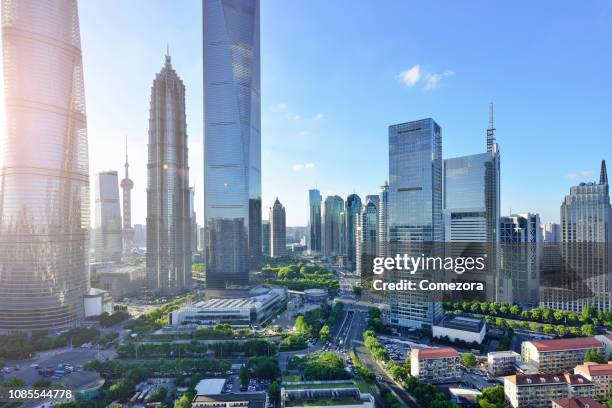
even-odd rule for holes
{"type": "Polygon", "coordinates": [[[355,273],[361,277],[372,274],[378,238],[378,206],[377,195],[366,196],[365,204],[355,220],[355,273]]]}

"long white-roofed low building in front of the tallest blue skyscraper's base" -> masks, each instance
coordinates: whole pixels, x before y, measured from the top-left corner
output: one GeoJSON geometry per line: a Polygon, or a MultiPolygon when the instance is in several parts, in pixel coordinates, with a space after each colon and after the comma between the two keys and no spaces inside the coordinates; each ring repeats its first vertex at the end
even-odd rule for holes
{"type": "Polygon", "coordinates": [[[168,315],[170,325],[196,324],[214,326],[227,323],[232,326],[259,325],[287,304],[287,290],[281,287],[261,286],[251,290],[246,298],[208,299],[168,315]]]}

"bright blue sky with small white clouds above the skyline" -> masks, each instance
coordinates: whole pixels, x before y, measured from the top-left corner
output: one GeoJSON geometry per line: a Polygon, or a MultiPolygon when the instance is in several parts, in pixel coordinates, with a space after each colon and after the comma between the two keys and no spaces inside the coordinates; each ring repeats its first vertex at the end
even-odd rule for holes
{"type": "MultiPolygon", "coordinates": [[[[200,2],[79,6],[92,174],[122,170],[127,134],[133,218],[144,221],[149,92],[169,43],[187,87],[201,222],[200,2]]],[[[278,196],[287,224],[304,225],[309,188],[378,193],[390,124],[432,117],[445,158],[482,152],[492,100],[502,213],[558,221],[569,187],[596,180],[600,160],[612,161],[611,20],[603,0],[263,0],[264,208],[278,196]]]]}

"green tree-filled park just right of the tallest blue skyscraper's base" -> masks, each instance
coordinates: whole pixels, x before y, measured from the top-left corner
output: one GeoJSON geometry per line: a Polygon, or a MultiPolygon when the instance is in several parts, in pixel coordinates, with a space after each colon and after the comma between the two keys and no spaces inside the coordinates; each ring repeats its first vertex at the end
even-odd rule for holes
{"type": "Polygon", "coordinates": [[[331,296],[336,296],[340,283],[334,274],[321,265],[293,263],[286,266],[264,266],[262,276],[266,283],[286,286],[290,290],[327,289],[331,296]]]}

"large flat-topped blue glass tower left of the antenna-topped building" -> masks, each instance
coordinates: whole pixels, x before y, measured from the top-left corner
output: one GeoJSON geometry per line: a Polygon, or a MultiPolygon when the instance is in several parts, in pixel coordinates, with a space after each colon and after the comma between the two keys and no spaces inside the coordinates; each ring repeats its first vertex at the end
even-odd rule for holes
{"type": "MultiPolygon", "coordinates": [[[[389,256],[439,256],[429,248],[444,239],[442,129],[433,119],[389,126],[389,256]]],[[[410,278],[421,276],[410,275],[410,278]]],[[[396,271],[399,281],[405,277],[396,271]]],[[[431,327],[442,316],[436,294],[394,291],[390,323],[431,327]]]]}

